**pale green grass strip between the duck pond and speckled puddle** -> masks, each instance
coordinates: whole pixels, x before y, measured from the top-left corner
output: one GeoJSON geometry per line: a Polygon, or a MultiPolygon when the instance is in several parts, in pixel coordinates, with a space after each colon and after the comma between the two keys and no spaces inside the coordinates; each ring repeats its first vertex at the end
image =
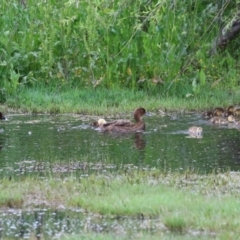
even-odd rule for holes
{"type": "Polygon", "coordinates": [[[240,233],[239,180],[240,174],[230,172],[199,176],[158,171],[86,178],[5,178],[0,184],[0,207],[65,206],[105,216],[160,217],[173,232],[226,236],[240,233]]]}

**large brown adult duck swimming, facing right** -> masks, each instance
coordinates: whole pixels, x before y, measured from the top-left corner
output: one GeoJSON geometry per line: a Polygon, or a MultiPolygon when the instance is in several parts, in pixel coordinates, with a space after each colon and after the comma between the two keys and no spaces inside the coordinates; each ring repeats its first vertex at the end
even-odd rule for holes
{"type": "Polygon", "coordinates": [[[136,132],[145,130],[145,123],[142,120],[142,117],[147,115],[145,108],[136,108],[134,110],[133,116],[135,119],[135,123],[119,119],[112,122],[107,122],[99,126],[102,131],[112,131],[112,132],[136,132]]]}

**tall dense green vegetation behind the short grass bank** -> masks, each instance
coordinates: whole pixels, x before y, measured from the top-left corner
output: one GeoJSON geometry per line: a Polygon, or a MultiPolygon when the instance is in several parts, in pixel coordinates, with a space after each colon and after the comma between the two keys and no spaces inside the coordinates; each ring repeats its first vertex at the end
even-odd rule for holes
{"type": "Polygon", "coordinates": [[[210,56],[219,16],[227,22],[238,1],[22,2],[0,7],[0,100],[14,98],[10,106],[41,87],[142,90],[188,102],[209,90],[227,99],[240,91],[237,41],[210,56]]]}

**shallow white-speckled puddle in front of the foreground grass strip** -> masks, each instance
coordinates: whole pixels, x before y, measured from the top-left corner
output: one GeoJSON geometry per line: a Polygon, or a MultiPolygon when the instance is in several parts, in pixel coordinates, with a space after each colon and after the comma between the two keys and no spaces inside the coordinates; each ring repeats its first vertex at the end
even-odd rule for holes
{"type": "Polygon", "coordinates": [[[141,231],[155,233],[156,229],[166,232],[159,218],[104,218],[79,210],[60,209],[4,210],[0,214],[1,236],[11,239],[59,239],[65,235],[84,236],[86,232],[118,236],[133,236],[141,231]]]}

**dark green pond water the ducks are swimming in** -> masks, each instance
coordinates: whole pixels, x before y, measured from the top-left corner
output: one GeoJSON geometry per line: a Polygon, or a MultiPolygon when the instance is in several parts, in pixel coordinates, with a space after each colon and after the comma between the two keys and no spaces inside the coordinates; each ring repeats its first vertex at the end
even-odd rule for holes
{"type": "Polygon", "coordinates": [[[89,116],[11,115],[0,122],[0,174],[14,171],[119,170],[125,166],[165,171],[240,169],[240,131],[231,124],[214,126],[199,114],[174,118],[144,117],[146,131],[104,133],[90,127],[89,116]],[[203,128],[189,138],[187,129],[203,128]]]}

